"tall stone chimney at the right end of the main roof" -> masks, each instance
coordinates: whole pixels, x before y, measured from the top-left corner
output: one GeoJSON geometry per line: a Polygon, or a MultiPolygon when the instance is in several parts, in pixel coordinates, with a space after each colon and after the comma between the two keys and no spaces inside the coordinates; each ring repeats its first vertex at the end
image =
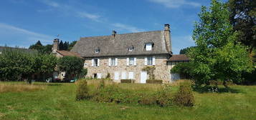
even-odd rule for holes
{"type": "Polygon", "coordinates": [[[169,24],[164,24],[164,39],[166,41],[166,49],[170,53],[171,51],[171,31],[170,31],[170,25],[169,24]]]}

